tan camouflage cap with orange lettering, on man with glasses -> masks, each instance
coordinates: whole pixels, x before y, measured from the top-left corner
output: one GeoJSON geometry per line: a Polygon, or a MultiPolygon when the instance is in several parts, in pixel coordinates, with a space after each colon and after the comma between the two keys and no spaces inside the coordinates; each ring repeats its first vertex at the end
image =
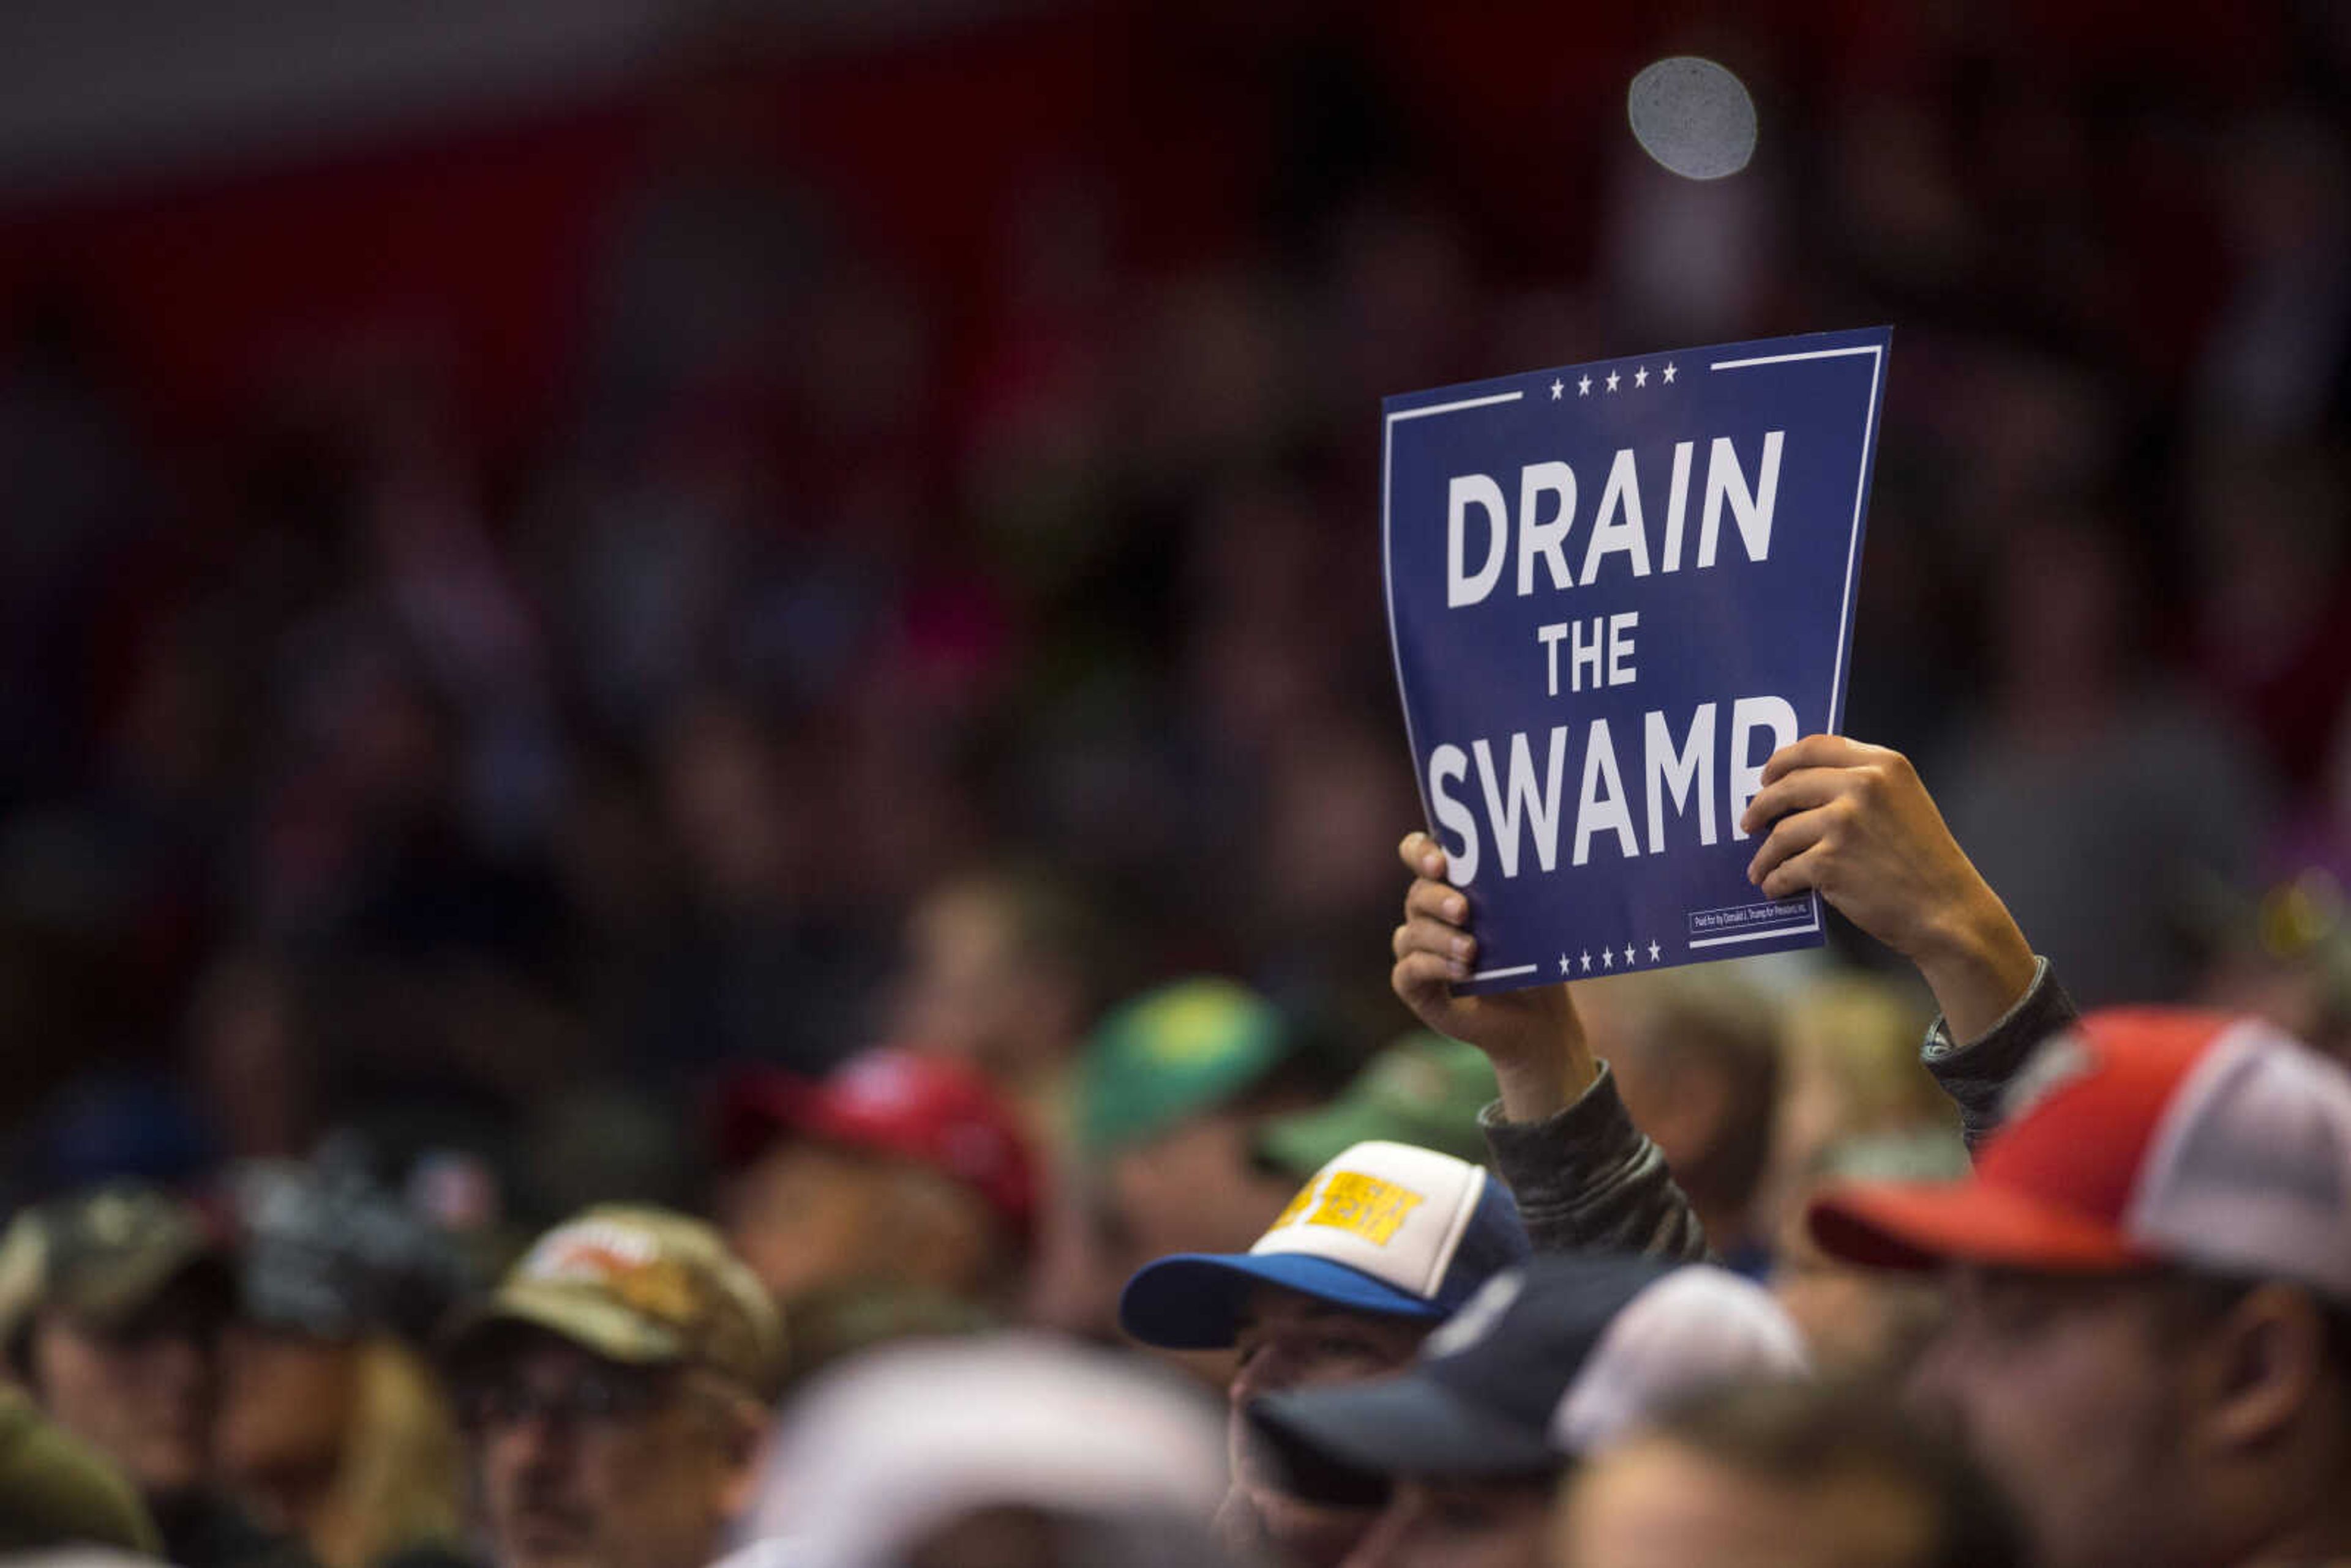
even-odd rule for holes
{"type": "Polygon", "coordinates": [[[447,1349],[473,1361],[501,1331],[541,1328],[632,1366],[703,1366],[755,1394],[783,1380],[783,1316],[710,1225],[604,1204],[564,1220],[463,1312],[447,1349]]]}

